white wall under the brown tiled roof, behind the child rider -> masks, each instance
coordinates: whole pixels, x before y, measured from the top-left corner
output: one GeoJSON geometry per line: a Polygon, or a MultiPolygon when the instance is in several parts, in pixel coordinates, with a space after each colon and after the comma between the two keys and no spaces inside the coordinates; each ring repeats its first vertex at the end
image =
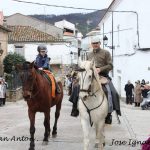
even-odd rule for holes
{"type": "MultiPolygon", "coordinates": [[[[25,59],[27,61],[34,61],[38,52],[37,46],[39,44],[25,44],[25,59]]],[[[51,58],[51,64],[71,64],[71,56],[70,52],[76,52],[77,50],[73,47],[69,47],[69,45],[65,44],[57,44],[57,45],[47,45],[48,56],[51,58]]],[[[14,52],[15,47],[14,44],[8,45],[8,53],[14,52]]],[[[72,58],[74,59],[74,58],[72,58]]],[[[77,63],[77,59],[72,60],[73,63],[77,63]]]]}

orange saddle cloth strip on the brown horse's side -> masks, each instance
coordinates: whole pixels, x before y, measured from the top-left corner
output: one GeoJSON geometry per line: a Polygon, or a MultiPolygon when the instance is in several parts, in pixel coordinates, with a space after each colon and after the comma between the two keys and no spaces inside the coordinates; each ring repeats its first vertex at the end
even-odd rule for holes
{"type": "Polygon", "coordinates": [[[56,96],[56,81],[55,81],[55,78],[53,76],[53,74],[49,71],[49,70],[43,70],[43,72],[47,75],[47,79],[51,82],[52,84],[52,97],[55,98],[56,96]]]}

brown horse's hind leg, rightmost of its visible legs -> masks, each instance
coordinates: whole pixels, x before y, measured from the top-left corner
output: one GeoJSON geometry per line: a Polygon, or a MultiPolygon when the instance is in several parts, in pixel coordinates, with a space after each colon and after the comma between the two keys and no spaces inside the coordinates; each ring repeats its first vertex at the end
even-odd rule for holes
{"type": "Polygon", "coordinates": [[[57,121],[60,115],[61,110],[61,101],[56,105],[56,112],[55,112],[55,122],[53,126],[52,136],[55,137],[57,135],[57,121]]]}

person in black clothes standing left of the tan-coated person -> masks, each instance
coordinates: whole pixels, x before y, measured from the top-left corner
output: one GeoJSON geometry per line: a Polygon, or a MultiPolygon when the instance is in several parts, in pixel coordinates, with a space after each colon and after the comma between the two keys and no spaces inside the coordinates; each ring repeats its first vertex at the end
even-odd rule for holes
{"type": "Polygon", "coordinates": [[[134,86],[130,82],[130,80],[128,80],[128,83],[125,85],[124,90],[126,92],[126,104],[130,103],[132,105],[132,102],[133,102],[132,96],[133,96],[134,86]]]}

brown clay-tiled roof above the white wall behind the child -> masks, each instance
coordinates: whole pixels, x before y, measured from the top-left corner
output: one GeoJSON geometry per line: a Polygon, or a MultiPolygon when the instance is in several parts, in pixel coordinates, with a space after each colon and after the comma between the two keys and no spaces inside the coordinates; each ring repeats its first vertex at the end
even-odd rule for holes
{"type": "Polygon", "coordinates": [[[63,42],[52,35],[39,31],[31,26],[8,26],[8,43],[15,42],[63,42]]]}

